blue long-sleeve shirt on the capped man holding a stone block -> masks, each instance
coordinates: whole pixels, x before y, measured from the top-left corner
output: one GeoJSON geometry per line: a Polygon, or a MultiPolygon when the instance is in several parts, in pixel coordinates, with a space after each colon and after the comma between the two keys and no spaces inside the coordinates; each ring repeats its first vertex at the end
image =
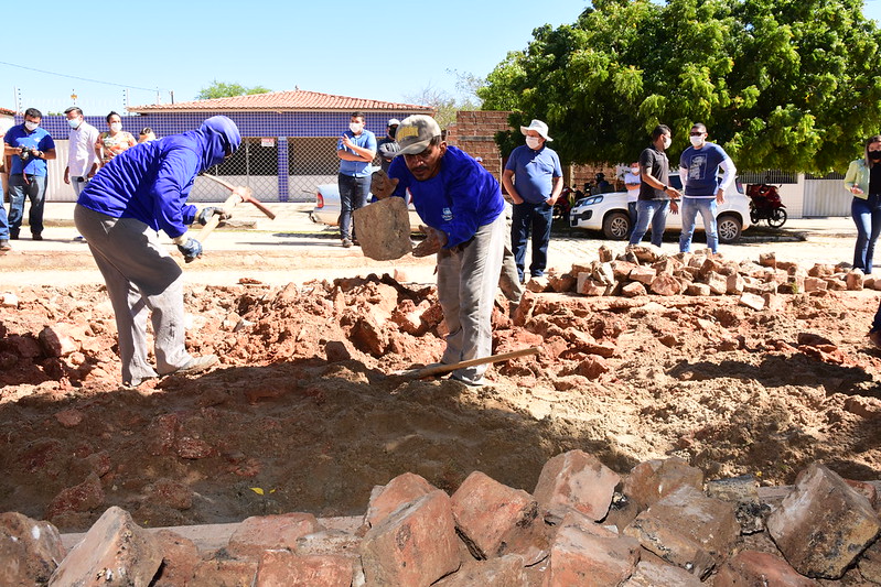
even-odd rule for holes
{"type": "Polygon", "coordinates": [[[388,176],[398,180],[394,195],[406,198],[409,193],[419,217],[447,233],[447,249],[470,240],[505,208],[495,177],[455,146],[447,148],[440,171],[430,180],[413,177],[402,156],[391,162],[388,176]]]}

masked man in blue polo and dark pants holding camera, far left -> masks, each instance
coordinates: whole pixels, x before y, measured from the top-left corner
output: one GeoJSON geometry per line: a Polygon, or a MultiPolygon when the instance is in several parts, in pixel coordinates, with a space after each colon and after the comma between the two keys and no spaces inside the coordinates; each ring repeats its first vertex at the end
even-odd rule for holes
{"type": "MultiPolygon", "coordinates": [[[[40,128],[43,113],[36,108],[24,111],[24,122],[3,137],[3,153],[12,156],[9,171],[9,238],[17,240],[24,217],[24,198],[31,200],[28,222],[31,238],[43,240],[43,205],[46,196],[46,161],[55,159],[55,141],[40,128]]],[[[2,240],[2,235],[0,235],[2,240]]],[[[8,243],[7,243],[8,244],[8,243]]]]}

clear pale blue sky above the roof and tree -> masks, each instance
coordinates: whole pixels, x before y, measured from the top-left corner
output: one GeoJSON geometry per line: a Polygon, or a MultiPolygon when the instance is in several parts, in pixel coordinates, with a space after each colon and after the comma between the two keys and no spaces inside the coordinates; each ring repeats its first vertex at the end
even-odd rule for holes
{"type": "MultiPolygon", "coordinates": [[[[6,19],[0,107],[62,111],[76,94],[87,115],[122,112],[126,97],[131,106],[169,102],[173,90],[174,101],[187,101],[215,79],[387,101],[428,87],[453,94],[448,70],[485,76],[524,48],[533,29],[574,22],[587,6],[46,0],[6,19]]],[[[881,0],[868,0],[864,12],[881,22],[881,0]]]]}

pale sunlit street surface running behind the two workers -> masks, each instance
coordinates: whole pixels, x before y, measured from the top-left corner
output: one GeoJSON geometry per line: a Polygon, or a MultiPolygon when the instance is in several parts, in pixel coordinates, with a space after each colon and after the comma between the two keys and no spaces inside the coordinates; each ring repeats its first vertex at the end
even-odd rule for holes
{"type": "MultiPolygon", "coordinates": [[[[32,241],[26,227],[13,250],[0,256],[4,284],[101,283],[101,276],[85,242],[75,240],[73,204],[46,204],[45,240],[32,241]]],[[[205,253],[185,268],[191,283],[236,283],[250,278],[265,283],[302,283],[315,278],[366,275],[372,272],[407,273],[409,280],[433,282],[433,258],[373,261],[358,248],[343,249],[335,228],[309,219],[311,204],[270,204],[277,218],[269,220],[250,206],[236,208],[238,227],[215,230],[203,243],[205,253]]],[[[815,262],[850,262],[856,230],[850,218],[791,219],[781,230],[753,227],[737,244],[721,246],[721,252],[737,260],[758,260],[761,252],[774,251],[778,259],[815,262]]],[[[696,246],[703,242],[696,235],[696,246]]],[[[597,259],[600,246],[623,251],[625,242],[610,241],[600,235],[556,227],[550,243],[551,265],[568,269],[573,262],[597,259]]],[[[171,246],[171,244],[170,244],[171,246]]],[[[663,248],[678,250],[674,236],[663,248]]],[[[528,252],[527,252],[528,256],[528,252]]],[[[879,261],[881,262],[881,261],[879,261]]],[[[528,262],[527,262],[528,264],[528,262]]]]}

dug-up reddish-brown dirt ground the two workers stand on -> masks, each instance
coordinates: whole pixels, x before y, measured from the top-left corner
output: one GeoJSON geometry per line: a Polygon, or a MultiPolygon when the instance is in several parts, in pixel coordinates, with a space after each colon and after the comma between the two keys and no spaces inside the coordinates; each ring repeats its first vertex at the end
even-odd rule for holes
{"type": "MultiPolygon", "coordinates": [[[[118,388],[95,287],[21,289],[0,314],[0,511],[87,529],[109,506],[142,525],[356,514],[405,471],[453,491],[473,470],[531,491],[581,448],[619,472],[677,455],[708,478],[791,483],[819,460],[881,470],[868,292],[735,297],[527,293],[494,314],[494,350],[541,345],[477,391],[399,369],[440,356],[433,287],[382,278],[191,287],[197,378],[118,388]],[[14,302],[14,303],[13,303],[14,302]]],[[[9,296],[8,296],[9,297],[9,296]]]]}

